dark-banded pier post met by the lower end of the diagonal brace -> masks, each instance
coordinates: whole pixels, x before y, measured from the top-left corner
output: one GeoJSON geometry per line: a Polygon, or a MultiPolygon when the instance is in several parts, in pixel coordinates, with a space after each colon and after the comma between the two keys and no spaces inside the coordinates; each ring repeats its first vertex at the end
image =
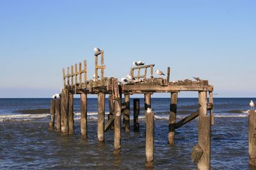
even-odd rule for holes
{"type": "Polygon", "coordinates": [[[169,133],[168,133],[168,143],[173,145],[175,143],[175,126],[176,126],[176,114],[177,114],[177,101],[178,92],[171,93],[170,102],[170,115],[169,115],[169,133]]]}

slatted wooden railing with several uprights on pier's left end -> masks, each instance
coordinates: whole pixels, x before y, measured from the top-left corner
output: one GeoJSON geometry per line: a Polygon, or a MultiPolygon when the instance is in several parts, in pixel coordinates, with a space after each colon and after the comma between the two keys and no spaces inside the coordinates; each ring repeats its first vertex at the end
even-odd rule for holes
{"type": "Polygon", "coordinates": [[[67,67],[67,72],[65,68],[62,69],[63,72],[63,84],[66,85],[81,85],[83,82],[87,82],[87,69],[86,69],[86,60],[84,60],[84,69],[82,69],[82,63],[79,62],[79,70],[77,71],[77,64],[75,66],[67,67]],[[71,72],[70,72],[71,69],[71,72]],[[67,74],[66,74],[67,73],[67,74]],[[84,76],[84,81],[83,81],[84,76]],[[75,78],[75,83],[74,83],[75,78]],[[79,78],[79,81],[77,80],[79,78]],[[71,83],[70,83],[71,80],[71,83]],[[83,82],[82,82],[83,81],[83,82]]]}

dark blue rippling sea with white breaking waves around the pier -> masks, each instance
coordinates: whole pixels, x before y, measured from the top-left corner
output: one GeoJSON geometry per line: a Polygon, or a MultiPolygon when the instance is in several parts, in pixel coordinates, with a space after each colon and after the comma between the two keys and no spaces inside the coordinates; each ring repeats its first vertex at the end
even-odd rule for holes
{"type": "MultiPolygon", "coordinates": [[[[211,169],[253,169],[248,166],[250,100],[256,101],[255,98],[214,98],[211,169]]],[[[74,99],[75,134],[72,136],[60,136],[48,130],[50,103],[51,99],[0,99],[0,169],[145,169],[142,98],[140,132],[133,132],[131,104],[131,132],[122,130],[120,156],[113,155],[113,131],[105,133],[105,143],[97,141],[97,99],[88,99],[88,139],[81,139],[80,99],[74,99]]],[[[191,160],[191,150],[198,138],[197,118],[177,129],[175,145],[170,146],[170,99],[152,98],[152,108],[154,169],[197,169],[191,160]]],[[[197,108],[198,98],[179,98],[177,121],[197,108]]],[[[106,118],[108,113],[106,99],[106,118]]]]}

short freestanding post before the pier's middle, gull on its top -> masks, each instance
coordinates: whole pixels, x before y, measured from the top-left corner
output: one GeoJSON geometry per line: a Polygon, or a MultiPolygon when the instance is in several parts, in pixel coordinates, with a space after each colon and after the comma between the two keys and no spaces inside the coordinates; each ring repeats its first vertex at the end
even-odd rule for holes
{"type": "Polygon", "coordinates": [[[145,113],[146,118],[146,167],[153,167],[154,163],[154,112],[145,113]]]}

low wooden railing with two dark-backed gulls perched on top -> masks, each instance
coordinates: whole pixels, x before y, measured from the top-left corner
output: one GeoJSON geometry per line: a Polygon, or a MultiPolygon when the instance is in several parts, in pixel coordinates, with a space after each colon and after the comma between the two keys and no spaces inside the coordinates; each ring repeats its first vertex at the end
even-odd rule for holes
{"type": "Polygon", "coordinates": [[[138,66],[138,67],[132,67],[131,68],[131,76],[134,77],[137,80],[140,80],[140,78],[146,79],[147,78],[147,69],[150,68],[150,78],[154,78],[153,76],[153,67],[155,64],[145,65],[145,66],[138,66]],[[144,74],[141,74],[141,69],[144,69],[144,74]],[[137,75],[134,75],[134,71],[138,71],[137,75]]]}

